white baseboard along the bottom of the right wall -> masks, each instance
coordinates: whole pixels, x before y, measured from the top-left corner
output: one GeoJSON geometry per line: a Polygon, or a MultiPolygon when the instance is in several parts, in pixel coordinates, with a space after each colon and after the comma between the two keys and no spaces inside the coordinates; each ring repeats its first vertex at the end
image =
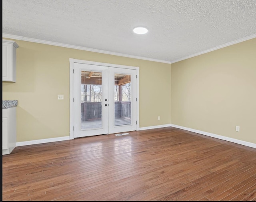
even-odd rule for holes
{"type": "Polygon", "coordinates": [[[178,125],[174,125],[174,124],[170,124],[170,125],[174,128],[180,128],[180,129],[183,129],[183,130],[188,130],[188,131],[191,131],[191,132],[195,132],[195,133],[199,133],[199,134],[202,134],[202,135],[210,136],[212,138],[218,138],[220,140],[226,140],[228,142],[234,142],[234,143],[237,143],[237,144],[242,144],[244,146],[249,146],[249,147],[252,147],[252,148],[256,148],[256,144],[252,143],[252,142],[246,142],[246,141],[243,141],[243,140],[228,138],[228,137],[221,136],[221,135],[216,135],[216,134],[213,134],[213,133],[210,133],[210,132],[204,132],[204,131],[201,131],[201,130],[195,130],[195,129],[192,129],[192,128],[186,128],[186,127],[178,126],[178,125]]]}

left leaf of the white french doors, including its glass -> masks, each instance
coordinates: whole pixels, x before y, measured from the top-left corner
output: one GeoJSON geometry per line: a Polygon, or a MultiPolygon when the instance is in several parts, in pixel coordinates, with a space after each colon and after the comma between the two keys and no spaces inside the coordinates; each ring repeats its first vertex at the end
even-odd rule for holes
{"type": "Polygon", "coordinates": [[[108,67],[74,63],[74,138],[108,134],[108,67]]]}

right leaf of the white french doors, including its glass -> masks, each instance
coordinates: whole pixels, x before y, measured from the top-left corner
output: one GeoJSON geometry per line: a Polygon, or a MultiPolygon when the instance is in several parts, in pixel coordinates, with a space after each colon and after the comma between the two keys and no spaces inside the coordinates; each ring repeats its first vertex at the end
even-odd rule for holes
{"type": "Polygon", "coordinates": [[[108,68],[108,132],[136,130],[136,70],[108,68]]]}

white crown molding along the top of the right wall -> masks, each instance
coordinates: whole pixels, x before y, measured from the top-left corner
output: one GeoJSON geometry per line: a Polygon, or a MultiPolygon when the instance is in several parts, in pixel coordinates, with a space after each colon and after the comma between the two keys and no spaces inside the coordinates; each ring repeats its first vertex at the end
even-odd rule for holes
{"type": "Polygon", "coordinates": [[[234,45],[234,44],[238,44],[238,43],[240,43],[240,42],[247,41],[247,40],[252,39],[252,38],[256,38],[256,34],[252,34],[252,35],[250,35],[250,36],[247,36],[247,37],[244,37],[244,38],[241,38],[241,39],[238,39],[238,40],[234,40],[234,41],[232,41],[232,42],[228,42],[228,43],[226,43],[226,44],[223,44],[223,45],[220,45],[220,46],[216,46],[216,47],[214,47],[214,48],[210,48],[210,49],[208,49],[208,50],[204,50],[204,51],[198,52],[198,53],[196,53],[196,54],[192,54],[192,55],[189,55],[189,56],[186,56],[186,57],[182,57],[182,58],[177,59],[177,60],[173,60],[173,61],[171,61],[171,64],[172,64],[172,63],[175,63],[175,62],[182,61],[182,60],[186,60],[186,59],[188,59],[188,58],[192,58],[192,57],[195,57],[195,56],[199,56],[199,55],[202,55],[202,54],[204,54],[204,53],[208,53],[208,52],[211,52],[211,51],[214,51],[214,50],[218,50],[218,49],[220,49],[220,48],[224,48],[224,47],[227,47],[227,46],[231,46],[231,45],[234,45]]]}

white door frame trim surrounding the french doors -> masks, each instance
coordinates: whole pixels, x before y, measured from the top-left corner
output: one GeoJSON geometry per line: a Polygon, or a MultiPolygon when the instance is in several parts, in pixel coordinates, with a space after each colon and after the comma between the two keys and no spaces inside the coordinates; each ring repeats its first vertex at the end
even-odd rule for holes
{"type": "Polygon", "coordinates": [[[139,130],[139,128],[140,128],[140,124],[139,124],[139,67],[69,58],[69,98],[70,98],[69,139],[70,140],[74,139],[74,63],[94,64],[94,65],[100,65],[100,66],[108,66],[108,67],[117,67],[117,68],[136,70],[136,100],[137,100],[137,102],[136,102],[136,123],[137,123],[136,130],[139,130]]]}

